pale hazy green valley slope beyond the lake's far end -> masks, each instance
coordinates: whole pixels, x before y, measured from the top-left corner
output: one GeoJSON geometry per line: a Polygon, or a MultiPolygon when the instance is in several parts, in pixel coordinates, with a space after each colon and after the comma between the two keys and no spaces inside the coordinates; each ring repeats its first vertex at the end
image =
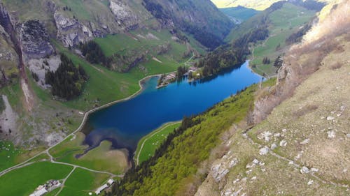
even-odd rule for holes
{"type": "Polygon", "coordinates": [[[286,50],[286,38],[298,31],[316,15],[314,10],[295,6],[291,3],[283,3],[278,9],[267,9],[232,30],[227,40],[235,40],[243,32],[259,26],[267,25],[269,37],[255,45],[251,45],[250,66],[255,73],[272,77],[276,75],[277,68],[273,66],[277,56],[286,50]],[[265,18],[262,21],[262,18],[265,18]],[[264,58],[270,59],[270,63],[262,63],[264,58]]]}

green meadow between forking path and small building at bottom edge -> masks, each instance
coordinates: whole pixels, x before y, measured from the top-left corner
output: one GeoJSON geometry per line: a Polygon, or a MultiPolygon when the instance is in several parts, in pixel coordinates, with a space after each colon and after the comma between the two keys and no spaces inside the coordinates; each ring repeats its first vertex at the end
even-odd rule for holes
{"type": "Polygon", "coordinates": [[[97,174],[76,168],[64,183],[64,188],[59,196],[86,196],[90,192],[94,193],[94,190],[106,183],[108,179],[107,174],[97,174]]]}

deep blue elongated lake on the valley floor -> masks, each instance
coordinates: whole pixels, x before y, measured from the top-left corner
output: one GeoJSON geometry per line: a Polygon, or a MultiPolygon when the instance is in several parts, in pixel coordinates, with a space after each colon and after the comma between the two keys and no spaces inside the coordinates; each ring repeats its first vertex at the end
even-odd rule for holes
{"type": "Polygon", "coordinates": [[[144,90],[138,96],[90,114],[84,128],[85,143],[93,147],[109,140],[113,147],[133,153],[141,137],[163,123],[204,112],[261,79],[248,68],[248,61],[196,84],[184,80],[156,89],[158,77],[151,77],[144,82],[144,90]]]}

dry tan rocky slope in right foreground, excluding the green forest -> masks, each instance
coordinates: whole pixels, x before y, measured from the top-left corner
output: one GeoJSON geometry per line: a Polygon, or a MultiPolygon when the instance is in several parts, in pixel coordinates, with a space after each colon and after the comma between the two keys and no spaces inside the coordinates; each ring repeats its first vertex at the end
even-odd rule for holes
{"type": "Polygon", "coordinates": [[[237,130],[196,195],[348,195],[348,12],[339,5],[286,54],[276,86],[255,101],[255,123],[267,119],[237,130]]]}

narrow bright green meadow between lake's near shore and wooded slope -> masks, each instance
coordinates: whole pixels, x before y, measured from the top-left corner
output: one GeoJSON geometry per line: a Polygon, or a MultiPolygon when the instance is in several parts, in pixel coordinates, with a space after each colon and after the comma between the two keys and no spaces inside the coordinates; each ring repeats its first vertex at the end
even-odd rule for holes
{"type": "Polygon", "coordinates": [[[181,122],[166,123],[160,128],[153,130],[145,137],[142,137],[139,144],[137,144],[137,150],[135,151],[134,158],[136,160],[139,159],[137,160],[137,163],[142,163],[144,160],[152,157],[155,150],[158,149],[160,144],[162,144],[162,142],[167,138],[167,135],[172,133],[174,129],[178,128],[179,126],[181,126],[181,122]]]}

